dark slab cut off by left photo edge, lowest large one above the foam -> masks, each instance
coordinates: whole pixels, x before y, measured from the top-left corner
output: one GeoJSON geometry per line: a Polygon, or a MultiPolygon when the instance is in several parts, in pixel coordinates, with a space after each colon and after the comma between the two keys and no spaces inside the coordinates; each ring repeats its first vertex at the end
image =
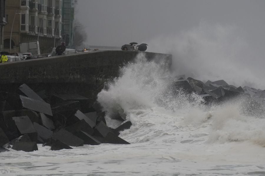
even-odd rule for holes
{"type": "Polygon", "coordinates": [[[0,128],[4,131],[9,141],[19,137],[19,131],[14,120],[3,121],[0,123],[0,128]]]}

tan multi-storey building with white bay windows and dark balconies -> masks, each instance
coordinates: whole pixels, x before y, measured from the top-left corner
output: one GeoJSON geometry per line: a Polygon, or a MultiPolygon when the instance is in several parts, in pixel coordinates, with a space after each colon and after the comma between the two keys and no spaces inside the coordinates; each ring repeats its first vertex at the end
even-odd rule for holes
{"type": "Polygon", "coordinates": [[[10,50],[10,37],[11,52],[20,52],[20,42],[39,40],[41,54],[51,52],[54,43],[55,47],[60,45],[62,0],[8,0],[6,13],[5,51],[10,50]]]}

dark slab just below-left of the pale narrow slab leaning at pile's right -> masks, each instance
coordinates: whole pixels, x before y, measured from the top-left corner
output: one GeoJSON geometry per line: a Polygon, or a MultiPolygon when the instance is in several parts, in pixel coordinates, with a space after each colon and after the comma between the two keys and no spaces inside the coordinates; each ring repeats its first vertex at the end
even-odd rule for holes
{"type": "Polygon", "coordinates": [[[82,119],[68,127],[65,127],[64,129],[66,129],[67,131],[69,131],[70,133],[74,134],[75,132],[79,132],[79,131],[85,131],[87,134],[92,135],[94,130],[92,129],[92,127],[87,124],[87,122],[82,119]]]}

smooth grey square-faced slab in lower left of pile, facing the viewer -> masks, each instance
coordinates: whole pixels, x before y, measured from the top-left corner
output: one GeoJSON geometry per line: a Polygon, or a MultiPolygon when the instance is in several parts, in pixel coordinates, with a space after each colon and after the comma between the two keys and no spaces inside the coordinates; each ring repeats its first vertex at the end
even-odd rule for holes
{"type": "Polygon", "coordinates": [[[28,116],[12,117],[20,134],[34,133],[36,130],[28,116]]]}

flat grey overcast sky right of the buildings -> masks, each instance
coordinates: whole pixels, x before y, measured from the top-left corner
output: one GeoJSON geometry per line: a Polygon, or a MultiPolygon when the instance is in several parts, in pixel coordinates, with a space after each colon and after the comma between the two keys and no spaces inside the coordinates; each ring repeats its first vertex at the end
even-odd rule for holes
{"type": "MultiPolygon", "coordinates": [[[[189,41],[204,45],[202,58],[208,57],[207,49],[212,56],[225,52],[265,75],[265,0],[78,0],[75,11],[87,45],[138,42],[148,43],[147,51],[177,52],[189,41]],[[158,44],[173,47],[160,51],[158,44]]],[[[197,50],[193,46],[196,56],[197,50]]]]}

